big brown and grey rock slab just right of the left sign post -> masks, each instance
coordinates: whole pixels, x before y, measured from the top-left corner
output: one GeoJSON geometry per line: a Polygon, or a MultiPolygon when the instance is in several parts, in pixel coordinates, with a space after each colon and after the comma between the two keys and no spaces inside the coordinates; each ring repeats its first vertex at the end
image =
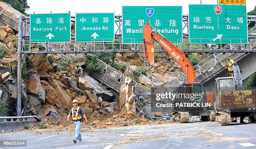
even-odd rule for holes
{"type": "Polygon", "coordinates": [[[28,75],[27,92],[34,95],[40,102],[45,101],[45,89],[42,87],[38,75],[28,75]]]}

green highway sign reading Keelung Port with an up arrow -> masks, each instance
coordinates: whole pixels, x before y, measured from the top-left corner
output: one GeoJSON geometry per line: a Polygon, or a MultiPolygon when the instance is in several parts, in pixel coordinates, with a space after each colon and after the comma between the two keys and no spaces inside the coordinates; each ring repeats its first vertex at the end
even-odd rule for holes
{"type": "Polygon", "coordinates": [[[30,15],[31,42],[70,42],[70,13],[30,15]]]}

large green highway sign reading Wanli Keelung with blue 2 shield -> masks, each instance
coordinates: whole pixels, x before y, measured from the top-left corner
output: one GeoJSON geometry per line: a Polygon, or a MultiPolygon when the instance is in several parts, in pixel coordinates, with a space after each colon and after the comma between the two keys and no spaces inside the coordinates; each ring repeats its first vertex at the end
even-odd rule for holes
{"type": "Polygon", "coordinates": [[[149,22],[171,42],[182,38],[182,6],[123,6],[123,43],[142,43],[149,22]]]}

